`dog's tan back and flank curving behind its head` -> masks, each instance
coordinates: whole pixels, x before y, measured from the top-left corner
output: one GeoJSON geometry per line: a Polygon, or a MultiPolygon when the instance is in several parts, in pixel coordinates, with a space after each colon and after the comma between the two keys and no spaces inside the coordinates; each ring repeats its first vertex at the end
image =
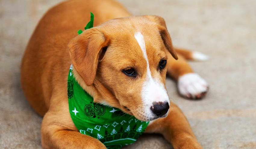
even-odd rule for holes
{"type": "Polygon", "coordinates": [[[130,15],[113,0],[62,2],[42,17],[27,45],[21,83],[27,100],[40,115],[47,112],[55,90],[57,94],[67,94],[67,76],[63,75],[68,73],[71,64],[67,44],[90,20],[90,12],[95,15],[94,26],[130,15]],[[56,86],[58,88],[54,88],[56,86]]]}

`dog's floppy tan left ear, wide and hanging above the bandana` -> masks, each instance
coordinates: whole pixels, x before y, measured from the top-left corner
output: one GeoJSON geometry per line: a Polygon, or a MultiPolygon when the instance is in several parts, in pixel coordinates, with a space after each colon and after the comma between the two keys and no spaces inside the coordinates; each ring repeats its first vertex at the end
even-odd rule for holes
{"type": "Polygon", "coordinates": [[[69,42],[72,65],[86,85],[92,85],[98,62],[103,58],[109,43],[108,36],[97,28],[87,29],[69,42]]]}

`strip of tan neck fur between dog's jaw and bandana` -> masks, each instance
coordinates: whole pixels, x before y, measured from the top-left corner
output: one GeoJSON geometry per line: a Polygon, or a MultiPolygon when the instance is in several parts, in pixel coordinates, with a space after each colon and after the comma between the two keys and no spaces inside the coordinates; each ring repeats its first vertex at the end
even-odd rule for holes
{"type": "Polygon", "coordinates": [[[100,103],[120,109],[118,99],[101,82],[95,80],[92,85],[86,85],[86,83],[83,81],[82,77],[79,75],[75,68],[73,68],[73,75],[78,84],[89,95],[92,96],[95,103],[100,103]]]}

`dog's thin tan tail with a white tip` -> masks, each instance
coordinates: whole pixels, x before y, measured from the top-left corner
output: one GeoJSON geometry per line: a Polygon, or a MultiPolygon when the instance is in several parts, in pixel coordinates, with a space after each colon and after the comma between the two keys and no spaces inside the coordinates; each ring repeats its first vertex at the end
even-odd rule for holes
{"type": "Polygon", "coordinates": [[[183,48],[174,48],[174,50],[177,52],[177,54],[182,55],[187,60],[206,61],[209,59],[209,56],[201,52],[189,51],[183,48]]]}

